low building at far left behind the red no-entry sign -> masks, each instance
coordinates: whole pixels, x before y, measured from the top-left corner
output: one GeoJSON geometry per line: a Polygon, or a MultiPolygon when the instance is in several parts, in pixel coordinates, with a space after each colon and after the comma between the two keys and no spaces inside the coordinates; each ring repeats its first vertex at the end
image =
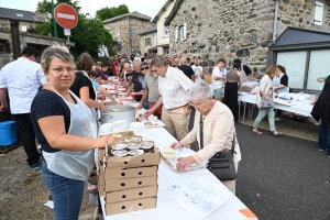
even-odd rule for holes
{"type": "Polygon", "coordinates": [[[43,52],[48,45],[53,43],[65,44],[65,40],[63,38],[28,33],[29,30],[31,30],[31,28],[34,29],[37,23],[46,21],[43,14],[37,14],[32,11],[0,8],[0,69],[6,64],[14,61],[11,32],[12,21],[19,22],[19,38],[21,51],[24,46],[34,46],[40,52],[43,52]]]}

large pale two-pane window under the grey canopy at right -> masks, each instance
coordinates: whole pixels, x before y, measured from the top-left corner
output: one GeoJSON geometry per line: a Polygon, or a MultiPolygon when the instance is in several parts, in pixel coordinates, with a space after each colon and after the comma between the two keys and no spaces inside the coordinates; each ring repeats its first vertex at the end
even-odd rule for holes
{"type": "Polygon", "coordinates": [[[320,91],[323,84],[317,79],[329,75],[329,59],[330,50],[279,52],[276,64],[286,68],[290,88],[320,91]]]}

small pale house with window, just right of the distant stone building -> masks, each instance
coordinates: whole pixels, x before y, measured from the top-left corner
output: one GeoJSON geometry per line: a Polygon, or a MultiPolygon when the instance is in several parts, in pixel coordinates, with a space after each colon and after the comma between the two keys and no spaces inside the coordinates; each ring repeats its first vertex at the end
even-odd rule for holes
{"type": "Polygon", "coordinates": [[[153,25],[142,32],[140,37],[141,54],[157,53],[157,25],[153,25]]]}

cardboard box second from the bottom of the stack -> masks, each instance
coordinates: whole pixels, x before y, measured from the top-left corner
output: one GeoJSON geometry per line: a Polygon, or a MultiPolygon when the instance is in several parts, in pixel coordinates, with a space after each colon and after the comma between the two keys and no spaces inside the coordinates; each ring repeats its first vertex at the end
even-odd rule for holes
{"type": "Polygon", "coordinates": [[[158,186],[128,189],[123,191],[107,193],[106,204],[122,202],[157,196],[158,186]]]}

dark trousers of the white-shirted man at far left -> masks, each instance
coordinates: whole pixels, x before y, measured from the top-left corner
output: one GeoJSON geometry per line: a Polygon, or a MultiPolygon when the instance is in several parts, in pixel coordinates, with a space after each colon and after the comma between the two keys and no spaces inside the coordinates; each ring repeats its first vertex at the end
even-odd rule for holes
{"type": "Polygon", "coordinates": [[[31,166],[38,163],[41,155],[36,150],[34,129],[30,113],[12,114],[12,118],[16,123],[19,135],[28,155],[28,164],[31,166]]]}

